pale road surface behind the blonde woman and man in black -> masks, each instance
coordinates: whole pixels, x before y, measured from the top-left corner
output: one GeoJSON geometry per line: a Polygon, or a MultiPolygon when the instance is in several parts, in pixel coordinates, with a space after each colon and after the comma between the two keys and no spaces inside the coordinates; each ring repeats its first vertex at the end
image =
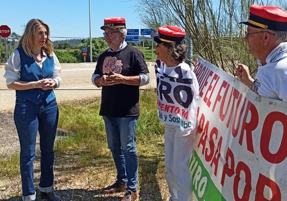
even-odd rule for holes
{"type": "MultiPolygon", "coordinates": [[[[148,62],[150,83],[145,87],[156,87],[156,76],[153,63],[148,62]]],[[[95,71],[96,63],[62,63],[62,85],[54,90],[58,102],[73,99],[87,98],[101,95],[101,88],[92,84],[91,77],[95,71]]],[[[13,110],[15,106],[15,91],[8,90],[4,66],[0,66],[0,111],[13,110]]]]}

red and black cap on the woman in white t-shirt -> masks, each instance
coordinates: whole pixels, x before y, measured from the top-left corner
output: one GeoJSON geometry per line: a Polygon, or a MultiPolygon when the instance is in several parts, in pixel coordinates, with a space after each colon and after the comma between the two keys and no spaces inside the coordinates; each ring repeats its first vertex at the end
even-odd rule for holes
{"type": "Polygon", "coordinates": [[[169,42],[180,44],[186,35],[185,31],[174,26],[159,27],[158,32],[158,35],[153,37],[153,40],[157,43],[169,42]]]}

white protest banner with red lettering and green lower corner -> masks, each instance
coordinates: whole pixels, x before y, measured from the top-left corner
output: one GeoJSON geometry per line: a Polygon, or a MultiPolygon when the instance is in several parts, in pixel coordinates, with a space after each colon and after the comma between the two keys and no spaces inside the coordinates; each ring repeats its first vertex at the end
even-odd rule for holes
{"type": "Polygon", "coordinates": [[[202,58],[194,72],[200,87],[191,159],[197,199],[217,201],[208,196],[214,186],[220,200],[287,200],[287,103],[255,94],[202,58]],[[197,189],[204,172],[210,179],[197,189]]]}

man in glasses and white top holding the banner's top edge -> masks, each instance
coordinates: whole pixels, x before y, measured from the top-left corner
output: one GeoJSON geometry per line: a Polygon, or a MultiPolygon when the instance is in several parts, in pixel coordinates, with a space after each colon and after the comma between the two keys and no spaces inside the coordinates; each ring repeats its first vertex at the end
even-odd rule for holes
{"type": "Polygon", "coordinates": [[[257,58],[255,79],[244,64],[234,71],[238,79],[255,93],[287,101],[287,11],[274,6],[250,7],[245,42],[249,53],[257,58]]]}

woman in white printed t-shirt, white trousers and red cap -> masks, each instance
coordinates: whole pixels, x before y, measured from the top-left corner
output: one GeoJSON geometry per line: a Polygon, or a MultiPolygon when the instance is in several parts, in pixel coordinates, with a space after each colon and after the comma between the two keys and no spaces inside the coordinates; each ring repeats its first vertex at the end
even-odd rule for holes
{"type": "Polygon", "coordinates": [[[184,62],[186,33],[179,27],[163,26],[152,36],[158,44],[158,115],[165,123],[165,178],[169,200],[192,201],[189,159],[193,151],[199,88],[195,74],[184,62]]]}

